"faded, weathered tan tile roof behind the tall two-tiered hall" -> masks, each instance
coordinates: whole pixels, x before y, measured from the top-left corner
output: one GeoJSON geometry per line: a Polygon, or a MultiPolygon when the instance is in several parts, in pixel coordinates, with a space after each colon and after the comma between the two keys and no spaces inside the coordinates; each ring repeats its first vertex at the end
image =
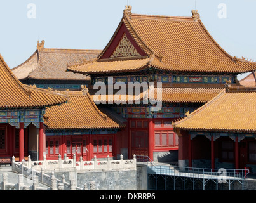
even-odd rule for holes
{"type": "Polygon", "coordinates": [[[96,58],[100,50],[50,49],[38,47],[24,63],[11,69],[18,79],[90,80],[90,77],[67,72],[67,65],[96,58]]]}

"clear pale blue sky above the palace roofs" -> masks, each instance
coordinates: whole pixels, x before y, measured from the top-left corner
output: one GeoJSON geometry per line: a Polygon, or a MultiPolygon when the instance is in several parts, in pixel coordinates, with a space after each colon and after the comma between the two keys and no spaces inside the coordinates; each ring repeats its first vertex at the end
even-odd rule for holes
{"type": "MultiPolygon", "coordinates": [[[[195,0],[129,0],[133,13],[191,16],[195,0]]],[[[103,49],[123,16],[127,0],[0,0],[0,53],[10,68],[25,62],[37,40],[46,48],[103,49]],[[36,18],[27,18],[27,5],[36,18]]],[[[255,0],[196,0],[201,20],[231,56],[256,60],[255,0]],[[219,4],[227,18],[219,18],[219,4]]],[[[245,77],[241,75],[238,79],[245,77]]]]}

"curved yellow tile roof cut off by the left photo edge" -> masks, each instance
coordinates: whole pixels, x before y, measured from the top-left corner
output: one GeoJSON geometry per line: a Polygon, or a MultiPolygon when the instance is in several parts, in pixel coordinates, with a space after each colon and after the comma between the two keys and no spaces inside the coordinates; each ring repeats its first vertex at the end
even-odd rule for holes
{"type": "Polygon", "coordinates": [[[30,108],[58,105],[67,95],[27,86],[18,81],[0,55],[0,108],[30,108]]]}

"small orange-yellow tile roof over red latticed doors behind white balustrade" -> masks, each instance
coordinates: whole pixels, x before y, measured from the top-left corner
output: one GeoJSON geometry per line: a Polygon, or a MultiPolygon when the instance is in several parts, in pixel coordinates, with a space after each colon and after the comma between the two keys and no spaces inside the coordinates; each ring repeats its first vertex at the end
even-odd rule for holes
{"type": "MultiPolygon", "coordinates": [[[[62,91],[70,100],[46,108],[44,124],[48,129],[118,129],[120,125],[98,110],[88,91],[62,91]]],[[[121,126],[122,127],[122,126],[121,126]]]]}

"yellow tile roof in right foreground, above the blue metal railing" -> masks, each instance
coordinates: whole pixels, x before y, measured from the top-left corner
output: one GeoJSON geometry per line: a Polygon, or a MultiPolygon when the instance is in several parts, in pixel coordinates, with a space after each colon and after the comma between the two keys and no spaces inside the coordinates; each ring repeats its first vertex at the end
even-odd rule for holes
{"type": "Polygon", "coordinates": [[[224,89],[187,116],[175,130],[256,133],[256,88],[224,89]]]}

